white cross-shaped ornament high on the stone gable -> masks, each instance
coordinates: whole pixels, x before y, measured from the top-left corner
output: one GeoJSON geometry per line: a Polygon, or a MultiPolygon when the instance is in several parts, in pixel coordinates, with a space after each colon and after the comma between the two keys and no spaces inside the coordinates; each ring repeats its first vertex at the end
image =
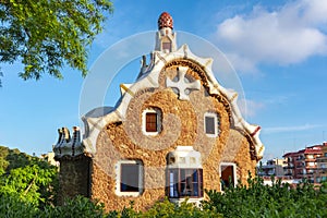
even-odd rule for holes
{"type": "Polygon", "coordinates": [[[178,68],[178,81],[172,81],[169,77],[166,78],[167,87],[175,88],[179,93],[180,100],[190,100],[189,95],[191,90],[199,90],[201,83],[198,80],[194,82],[189,82],[185,77],[187,72],[187,66],[179,66],[178,68]]]}

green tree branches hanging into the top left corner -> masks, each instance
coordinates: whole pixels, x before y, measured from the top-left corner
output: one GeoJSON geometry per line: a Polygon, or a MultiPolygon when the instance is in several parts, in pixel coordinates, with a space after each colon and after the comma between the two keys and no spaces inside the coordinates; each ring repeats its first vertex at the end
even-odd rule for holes
{"type": "Polygon", "coordinates": [[[87,48],[111,12],[110,0],[0,0],[0,63],[22,62],[24,80],[62,78],[65,64],[85,76],[87,48]]]}

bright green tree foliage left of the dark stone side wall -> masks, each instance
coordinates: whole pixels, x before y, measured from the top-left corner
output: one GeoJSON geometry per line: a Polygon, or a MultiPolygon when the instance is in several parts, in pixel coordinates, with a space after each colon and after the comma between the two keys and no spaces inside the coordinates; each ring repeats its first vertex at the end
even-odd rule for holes
{"type": "Polygon", "coordinates": [[[58,169],[47,161],[17,149],[0,146],[0,196],[44,207],[53,205],[58,189],[58,169]]]}

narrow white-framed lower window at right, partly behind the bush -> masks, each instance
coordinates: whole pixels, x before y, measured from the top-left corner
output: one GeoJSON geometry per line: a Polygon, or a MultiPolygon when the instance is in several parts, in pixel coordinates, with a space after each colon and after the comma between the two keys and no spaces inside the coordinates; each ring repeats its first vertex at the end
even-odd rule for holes
{"type": "Polygon", "coordinates": [[[235,164],[223,162],[220,164],[220,190],[225,191],[227,187],[237,184],[237,166],[235,164]]]}

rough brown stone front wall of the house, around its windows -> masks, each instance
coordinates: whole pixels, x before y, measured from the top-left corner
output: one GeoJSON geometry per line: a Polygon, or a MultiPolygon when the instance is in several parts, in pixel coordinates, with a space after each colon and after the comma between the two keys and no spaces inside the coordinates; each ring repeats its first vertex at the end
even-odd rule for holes
{"type": "MultiPolygon", "coordinates": [[[[250,144],[245,136],[233,130],[230,111],[223,98],[210,96],[203,70],[191,61],[169,63],[160,72],[159,87],[134,94],[125,120],[108,123],[97,140],[97,153],[93,161],[92,197],[100,199],[107,210],[122,209],[134,202],[134,208],[143,210],[165,197],[167,155],[177,146],[193,146],[202,154],[204,189],[220,190],[219,164],[234,162],[238,179],[246,181],[247,171],[254,171],[250,144]],[[179,100],[166,78],[177,76],[178,64],[189,66],[186,76],[192,82],[201,80],[202,88],[190,94],[190,100],[179,100]],[[222,100],[221,100],[222,99],[222,100]],[[162,130],[156,136],[142,132],[142,112],[156,107],[162,112],[162,130]],[[219,135],[208,137],[204,132],[204,114],[219,116],[219,135]],[[116,167],[119,160],[142,160],[144,165],[144,192],[138,197],[116,195],[116,167]]],[[[131,94],[126,94],[131,95],[131,94]]]]}

